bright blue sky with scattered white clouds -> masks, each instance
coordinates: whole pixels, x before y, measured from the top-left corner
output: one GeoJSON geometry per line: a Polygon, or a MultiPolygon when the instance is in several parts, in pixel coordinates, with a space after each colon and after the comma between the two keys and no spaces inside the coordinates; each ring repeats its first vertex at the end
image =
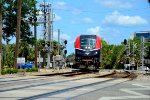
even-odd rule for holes
{"type": "MultiPolygon", "coordinates": [[[[39,4],[44,0],[37,0],[39,4]]],[[[68,54],[74,52],[74,41],[81,34],[99,35],[109,44],[120,44],[138,31],[150,30],[148,0],[45,0],[52,4],[54,39],[60,29],[61,40],[68,41],[68,54]]],[[[42,25],[38,38],[43,37],[42,25]]]]}

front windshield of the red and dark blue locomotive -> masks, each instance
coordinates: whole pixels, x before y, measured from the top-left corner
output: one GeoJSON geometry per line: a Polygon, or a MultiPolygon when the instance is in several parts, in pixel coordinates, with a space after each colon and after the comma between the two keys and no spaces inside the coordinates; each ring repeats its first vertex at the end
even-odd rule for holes
{"type": "Polygon", "coordinates": [[[96,39],[92,37],[82,37],[80,42],[81,49],[94,49],[96,39]]]}

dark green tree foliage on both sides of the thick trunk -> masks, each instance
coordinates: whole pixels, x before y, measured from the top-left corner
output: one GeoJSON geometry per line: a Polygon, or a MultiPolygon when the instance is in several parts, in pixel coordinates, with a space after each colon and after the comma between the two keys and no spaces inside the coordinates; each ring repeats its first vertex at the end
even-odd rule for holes
{"type": "MultiPolygon", "coordinates": [[[[29,44],[34,44],[33,34],[30,31],[30,23],[28,17],[34,16],[34,11],[37,11],[36,0],[23,0],[21,11],[21,39],[29,44]]],[[[16,20],[17,20],[17,3],[16,0],[3,0],[3,39],[9,44],[12,37],[16,36],[16,20]]]]}

